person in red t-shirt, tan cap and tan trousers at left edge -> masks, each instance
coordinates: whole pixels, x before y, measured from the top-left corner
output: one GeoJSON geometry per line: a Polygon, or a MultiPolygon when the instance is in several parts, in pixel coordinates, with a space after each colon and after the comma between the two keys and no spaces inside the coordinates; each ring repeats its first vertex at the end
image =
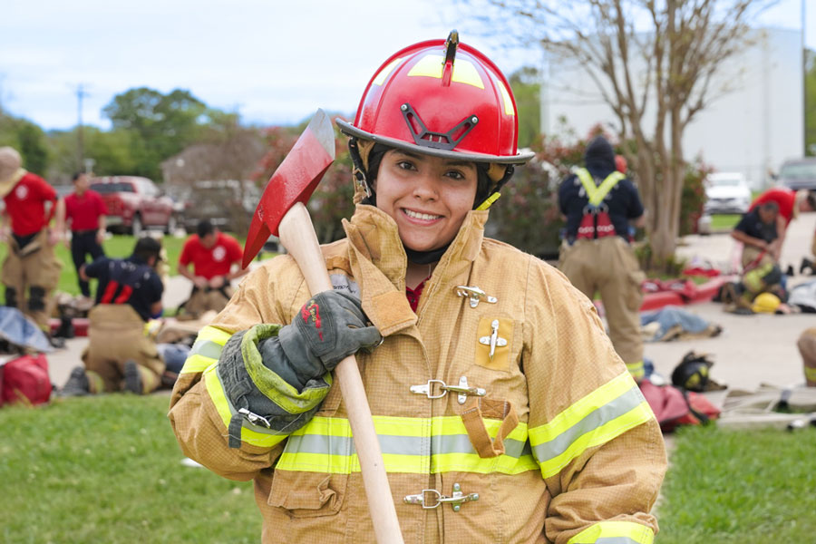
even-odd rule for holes
{"type": "Polygon", "coordinates": [[[5,201],[2,222],[7,218],[11,224],[10,231],[5,224],[0,227],[0,238],[8,245],[2,272],[5,306],[19,308],[50,332],[45,309],[60,279],[62,264],[53,246],[63,238],[63,222],[58,217],[55,228],[48,228],[56,209],[56,191],[21,165],[20,153],[14,148],[0,148],[0,197],[5,201]],[[46,202],[50,202],[50,209],[46,209],[46,202]]]}

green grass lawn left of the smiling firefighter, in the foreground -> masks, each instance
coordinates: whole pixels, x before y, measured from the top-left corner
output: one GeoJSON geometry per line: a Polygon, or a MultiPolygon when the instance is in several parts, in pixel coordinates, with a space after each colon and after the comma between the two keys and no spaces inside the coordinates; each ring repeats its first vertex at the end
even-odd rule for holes
{"type": "Polygon", "coordinates": [[[0,541],[257,542],[251,482],[181,464],[169,399],[0,410],[0,541]]]}

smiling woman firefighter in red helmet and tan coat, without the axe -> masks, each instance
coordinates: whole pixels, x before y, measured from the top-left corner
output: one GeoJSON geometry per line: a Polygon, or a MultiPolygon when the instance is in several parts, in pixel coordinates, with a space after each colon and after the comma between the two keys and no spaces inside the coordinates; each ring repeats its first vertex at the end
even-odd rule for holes
{"type": "Polygon", "coordinates": [[[594,306],[484,238],[531,155],[516,116],[455,33],[393,54],[337,121],[358,190],[323,247],[335,290],[276,257],[201,330],[170,420],[189,457],[254,480],[264,542],[374,541],[331,375],[357,350],[405,542],[652,542],[663,439],[594,306]]]}

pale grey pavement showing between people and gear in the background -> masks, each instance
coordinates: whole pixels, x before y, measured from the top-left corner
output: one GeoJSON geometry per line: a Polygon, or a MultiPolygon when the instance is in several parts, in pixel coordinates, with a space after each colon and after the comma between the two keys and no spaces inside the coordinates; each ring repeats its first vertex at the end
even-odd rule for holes
{"type": "MultiPolygon", "coordinates": [[[[804,214],[793,221],[782,252],[784,266],[792,264],[798,270],[801,257],[810,253],[814,227],[816,213],[804,214]]],[[[686,237],[678,253],[707,260],[724,270],[732,266],[736,255],[733,240],[727,234],[686,237]]],[[[809,279],[793,277],[792,284],[809,279]]],[[[163,299],[165,306],[178,306],[189,295],[189,290],[189,280],[171,277],[163,299]]],[[[661,374],[670,376],[683,355],[695,350],[713,354],[716,363],[712,376],[734,388],[751,390],[762,383],[786,386],[803,381],[796,338],[806,327],[816,325],[816,316],[733,316],[725,314],[722,306],[715,303],[687,306],[687,309],[722,325],[724,332],[703,340],[646,344],[646,357],[661,374]]],[[[55,384],[63,384],[73,365],[80,364],[86,342],[85,338],[73,339],[66,349],[49,355],[55,384]]]]}

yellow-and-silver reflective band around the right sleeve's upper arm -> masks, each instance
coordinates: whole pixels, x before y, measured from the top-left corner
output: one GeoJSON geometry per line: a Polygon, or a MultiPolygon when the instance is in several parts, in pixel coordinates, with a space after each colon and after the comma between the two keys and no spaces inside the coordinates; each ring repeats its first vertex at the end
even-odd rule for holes
{"type": "Polygon", "coordinates": [[[541,474],[549,478],[588,448],[609,442],[653,418],[643,393],[628,372],[601,385],[553,420],[529,430],[541,474]]]}

